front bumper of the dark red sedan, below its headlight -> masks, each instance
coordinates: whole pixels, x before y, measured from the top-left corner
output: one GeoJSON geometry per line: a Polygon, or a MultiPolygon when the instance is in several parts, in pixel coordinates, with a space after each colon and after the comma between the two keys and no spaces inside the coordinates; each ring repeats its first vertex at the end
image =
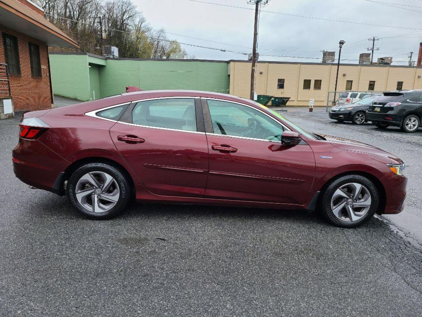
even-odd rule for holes
{"type": "Polygon", "coordinates": [[[407,178],[396,175],[393,172],[388,173],[381,178],[386,193],[385,210],[383,213],[400,213],[403,211],[406,198],[407,178]]]}

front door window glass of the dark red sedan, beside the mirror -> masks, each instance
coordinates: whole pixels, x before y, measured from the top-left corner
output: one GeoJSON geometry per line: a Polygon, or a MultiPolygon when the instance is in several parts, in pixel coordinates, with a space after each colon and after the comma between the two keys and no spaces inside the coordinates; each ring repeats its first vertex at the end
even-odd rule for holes
{"type": "Polygon", "coordinates": [[[283,126],[262,112],[228,101],[207,102],[214,133],[281,141],[283,126]]]}

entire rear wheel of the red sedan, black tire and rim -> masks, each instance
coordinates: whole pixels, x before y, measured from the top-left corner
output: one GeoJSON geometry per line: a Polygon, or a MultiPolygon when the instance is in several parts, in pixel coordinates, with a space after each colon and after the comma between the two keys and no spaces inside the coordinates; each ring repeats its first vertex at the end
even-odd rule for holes
{"type": "Polygon", "coordinates": [[[85,164],[68,180],[70,202],[90,219],[109,219],[122,212],[130,201],[130,192],[123,173],[105,163],[85,164]]]}

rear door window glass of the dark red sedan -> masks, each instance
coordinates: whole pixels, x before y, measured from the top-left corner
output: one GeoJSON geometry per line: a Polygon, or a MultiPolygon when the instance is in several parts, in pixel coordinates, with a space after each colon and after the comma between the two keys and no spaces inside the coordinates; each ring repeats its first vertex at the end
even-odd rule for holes
{"type": "Polygon", "coordinates": [[[132,122],[141,126],[197,131],[195,100],[174,98],[140,101],[132,110],[132,122]]]}

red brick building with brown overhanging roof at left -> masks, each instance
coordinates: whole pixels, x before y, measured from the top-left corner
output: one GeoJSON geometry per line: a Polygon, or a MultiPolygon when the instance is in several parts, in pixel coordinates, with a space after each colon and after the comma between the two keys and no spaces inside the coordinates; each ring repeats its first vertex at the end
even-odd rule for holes
{"type": "Polygon", "coordinates": [[[51,107],[48,46],[79,47],[35,3],[0,0],[0,98],[9,94],[7,64],[14,111],[51,107]]]}

